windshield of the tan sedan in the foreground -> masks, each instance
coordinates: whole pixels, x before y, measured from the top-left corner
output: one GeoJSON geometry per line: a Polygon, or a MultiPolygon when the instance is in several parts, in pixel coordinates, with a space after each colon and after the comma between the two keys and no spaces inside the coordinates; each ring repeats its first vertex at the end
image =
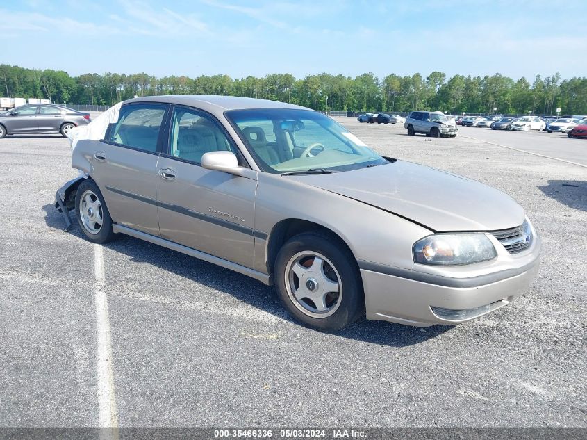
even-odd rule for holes
{"type": "Polygon", "coordinates": [[[284,172],[336,172],[388,163],[330,117],[297,108],[227,111],[261,168],[284,172]]]}

